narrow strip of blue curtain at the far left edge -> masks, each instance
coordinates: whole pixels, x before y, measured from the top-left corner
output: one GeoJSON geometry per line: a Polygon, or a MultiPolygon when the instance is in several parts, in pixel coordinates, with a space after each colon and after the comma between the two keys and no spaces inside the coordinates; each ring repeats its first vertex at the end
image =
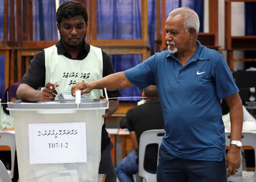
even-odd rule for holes
{"type": "MultiPolygon", "coordinates": [[[[3,40],[3,0],[0,0],[0,40],[3,40]]],[[[0,99],[5,92],[5,56],[0,56],[0,99]]]]}

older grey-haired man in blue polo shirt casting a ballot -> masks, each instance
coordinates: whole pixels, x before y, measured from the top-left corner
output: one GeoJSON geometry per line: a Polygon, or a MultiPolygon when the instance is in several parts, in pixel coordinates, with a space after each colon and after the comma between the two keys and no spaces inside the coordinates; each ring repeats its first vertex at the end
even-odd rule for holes
{"type": "Polygon", "coordinates": [[[125,72],[72,87],[72,93],[79,89],[84,93],[156,84],[166,130],[159,149],[159,182],[224,182],[240,167],[243,112],[239,90],[224,57],[201,45],[198,33],[196,12],[176,9],[166,20],[168,51],[125,72]],[[230,109],[234,144],[226,156],[221,99],[230,109]]]}

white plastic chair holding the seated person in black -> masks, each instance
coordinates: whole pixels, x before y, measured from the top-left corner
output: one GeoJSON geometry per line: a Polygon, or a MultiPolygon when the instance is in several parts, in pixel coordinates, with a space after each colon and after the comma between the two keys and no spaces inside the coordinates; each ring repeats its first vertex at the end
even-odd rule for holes
{"type": "Polygon", "coordinates": [[[139,171],[138,175],[143,177],[146,182],[156,182],[156,173],[150,173],[144,170],[144,155],[146,146],[152,143],[158,144],[158,150],[163,139],[165,131],[163,129],[147,130],[139,138],[139,171]]]}

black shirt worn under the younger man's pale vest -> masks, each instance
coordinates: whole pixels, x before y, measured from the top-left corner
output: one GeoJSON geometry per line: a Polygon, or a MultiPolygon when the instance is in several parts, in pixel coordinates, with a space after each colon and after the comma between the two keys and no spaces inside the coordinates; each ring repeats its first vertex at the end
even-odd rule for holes
{"type": "MultiPolygon", "coordinates": [[[[72,60],[84,60],[84,58],[90,52],[90,45],[86,44],[85,41],[83,43],[83,48],[77,54],[77,58],[74,59],[71,57],[71,54],[65,51],[61,41],[56,44],[57,53],[63,54],[65,57],[72,59],[72,60]]],[[[102,58],[103,58],[103,70],[102,70],[102,77],[106,77],[109,74],[114,73],[114,68],[110,57],[108,54],[102,51],[102,58]]],[[[44,87],[46,81],[46,65],[45,65],[45,56],[44,50],[41,50],[39,53],[35,54],[34,58],[32,58],[30,65],[28,66],[28,71],[24,74],[21,83],[26,83],[30,87],[37,90],[39,87],[44,87]]],[[[105,93],[104,93],[105,94],[105,93]]],[[[116,98],[120,96],[119,90],[115,91],[108,91],[109,98],[116,98]]],[[[102,126],[102,133],[101,133],[101,150],[104,150],[106,146],[109,145],[110,138],[108,136],[108,132],[106,131],[106,125],[102,126]]]]}

